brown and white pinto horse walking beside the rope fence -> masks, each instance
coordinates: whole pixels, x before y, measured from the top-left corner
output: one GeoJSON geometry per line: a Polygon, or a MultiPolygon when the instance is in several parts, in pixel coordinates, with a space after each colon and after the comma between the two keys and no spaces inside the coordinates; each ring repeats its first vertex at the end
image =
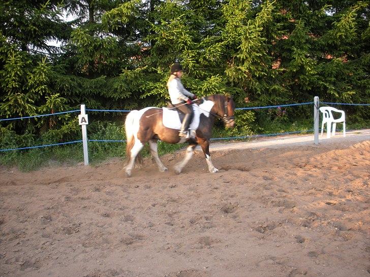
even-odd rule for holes
{"type": "Polygon", "coordinates": [[[169,144],[188,142],[189,145],[186,150],[185,158],[174,166],[176,174],[180,174],[183,167],[192,158],[194,149],[197,145],[200,145],[203,150],[209,172],[215,173],[219,171],[219,169],[213,166],[209,154],[209,140],[212,135],[212,126],[215,119],[220,118],[223,120],[226,128],[234,127],[235,103],[231,97],[221,94],[203,97],[194,102],[200,102],[199,105],[196,103],[192,105],[195,115],[198,109],[199,125],[196,128],[195,138],[186,139],[180,137],[178,135],[178,129],[166,127],[163,124],[164,112],[162,108],[148,107],[141,110],[133,110],[127,115],[125,120],[127,139],[127,164],[125,171],[127,177],[131,176],[132,168],[135,163],[141,159],[139,152],[147,142],[149,143],[150,154],[155,159],[159,171],[164,172],[168,170],[158,156],[158,140],[169,144]]]}

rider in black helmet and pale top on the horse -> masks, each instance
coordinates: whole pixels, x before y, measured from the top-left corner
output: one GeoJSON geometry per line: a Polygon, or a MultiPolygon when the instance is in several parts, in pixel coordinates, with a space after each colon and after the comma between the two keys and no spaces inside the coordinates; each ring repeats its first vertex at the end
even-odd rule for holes
{"type": "MultiPolygon", "coordinates": [[[[173,106],[176,107],[179,111],[185,114],[185,117],[182,120],[181,130],[179,131],[179,136],[187,137],[188,129],[190,122],[193,118],[193,108],[192,108],[192,100],[190,99],[197,99],[197,96],[189,91],[187,91],[183,85],[181,84],[181,76],[182,76],[182,66],[179,63],[174,63],[171,65],[171,75],[167,81],[167,88],[168,93],[170,94],[171,103],[173,106]]],[[[195,131],[190,131],[190,137],[195,137],[195,131]]]]}

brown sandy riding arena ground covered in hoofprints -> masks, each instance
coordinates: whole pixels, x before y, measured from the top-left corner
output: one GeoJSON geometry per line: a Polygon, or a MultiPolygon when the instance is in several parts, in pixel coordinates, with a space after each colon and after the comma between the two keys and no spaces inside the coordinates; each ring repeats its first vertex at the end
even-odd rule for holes
{"type": "Polygon", "coordinates": [[[354,137],[216,143],[217,174],[199,151],[180,175],[182,152],[132,178],[119,159],[1,167],[0,275],[370,276],[370,142],[354,137]]]}

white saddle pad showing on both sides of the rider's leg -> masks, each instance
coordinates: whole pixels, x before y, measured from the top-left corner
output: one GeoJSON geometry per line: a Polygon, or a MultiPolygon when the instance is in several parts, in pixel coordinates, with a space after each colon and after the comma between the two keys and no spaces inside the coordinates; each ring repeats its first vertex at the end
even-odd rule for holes
{"type": "MultiPolygon", "coordinates": [[[[193,104],[192,109],[194,111],[192,122],[190,123],[189,128],[191,130],[196,130],[199,126],[199,116],[200,112],[199,109],[197,109],[198,105],[193,104]]],[[[181,122],[184,118],[184,113],[177,110],[171,103],[168,103],[167,107],[163,107],[163,125],[170,129],[181,129],[181,122]]]]}

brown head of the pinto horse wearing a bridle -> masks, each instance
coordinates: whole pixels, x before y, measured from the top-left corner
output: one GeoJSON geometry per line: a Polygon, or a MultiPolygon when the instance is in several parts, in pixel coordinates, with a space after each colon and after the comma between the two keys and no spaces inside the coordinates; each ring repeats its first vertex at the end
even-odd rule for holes
{"type": "Polygon", "coordinates": [[[234,109],[235,103],[233,98],[226,95],[215,94],[207,97],[214,102],[211,112],[224,121],[227,128],[235,125],[234,109]]]}

